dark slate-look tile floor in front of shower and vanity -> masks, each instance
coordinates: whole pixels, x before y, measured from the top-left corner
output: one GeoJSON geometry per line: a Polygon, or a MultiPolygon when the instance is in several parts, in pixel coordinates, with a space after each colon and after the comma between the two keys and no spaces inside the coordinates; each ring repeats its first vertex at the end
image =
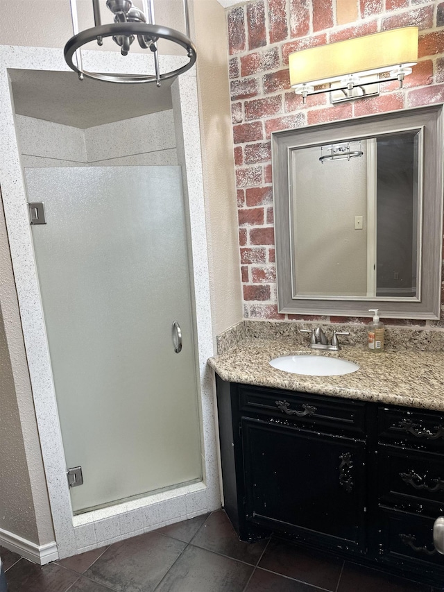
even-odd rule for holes
{"type": "Polygon", "coordinates": [[[282,539],[241,543],[223,510],[44,567],[0,556],[9,592],[434,592],[282,539]]]}

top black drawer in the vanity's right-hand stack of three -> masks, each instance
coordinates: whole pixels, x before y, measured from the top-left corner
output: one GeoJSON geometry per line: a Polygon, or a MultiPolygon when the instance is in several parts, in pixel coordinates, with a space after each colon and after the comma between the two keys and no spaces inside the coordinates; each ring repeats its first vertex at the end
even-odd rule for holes
{"type": "Polygon", "coordinates": [[[379,441],[408,443],[422,450],[444,450],[444,416],[409,409],[378,409],[379,441]]]}

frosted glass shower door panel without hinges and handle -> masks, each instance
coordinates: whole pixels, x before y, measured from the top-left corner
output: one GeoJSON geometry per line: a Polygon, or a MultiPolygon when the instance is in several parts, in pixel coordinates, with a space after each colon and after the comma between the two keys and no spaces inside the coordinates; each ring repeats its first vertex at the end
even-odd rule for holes
{"type": "Polygon", "coordinates": [[[26,169],[74,511],[201,478],[180,167],[26,169]],[[176,354],[171,326],[182,328],[176,354]]]}

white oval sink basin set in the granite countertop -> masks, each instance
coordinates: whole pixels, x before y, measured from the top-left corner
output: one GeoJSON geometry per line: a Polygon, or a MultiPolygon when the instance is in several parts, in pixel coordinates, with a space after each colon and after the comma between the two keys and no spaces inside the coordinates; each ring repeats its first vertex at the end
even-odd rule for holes
{"type": "Polygon", "coordinates": [[[326,355],[282,355],[271,360],[270,365],[278,370],[309,376],[338,376],[359,370],[355,362],[326,355]]]}

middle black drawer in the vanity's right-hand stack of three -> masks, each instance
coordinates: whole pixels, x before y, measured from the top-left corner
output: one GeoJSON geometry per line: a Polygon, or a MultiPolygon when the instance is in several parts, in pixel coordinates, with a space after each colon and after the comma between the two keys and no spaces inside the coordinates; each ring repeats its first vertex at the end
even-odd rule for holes
{"type": "Polygon", "coordinates": [[[379,444],[379,502],[444,514],[443,455],[379,444]]]}

